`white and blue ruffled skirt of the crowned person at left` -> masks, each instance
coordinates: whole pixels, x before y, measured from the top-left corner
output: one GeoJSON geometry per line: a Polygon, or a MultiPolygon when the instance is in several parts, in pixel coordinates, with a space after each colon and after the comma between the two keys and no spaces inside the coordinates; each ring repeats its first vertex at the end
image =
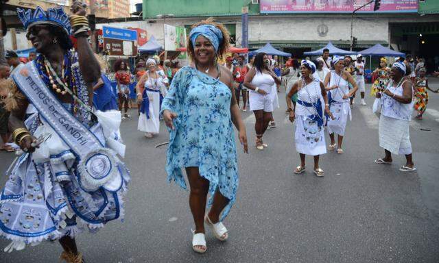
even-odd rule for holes
{"type": "MultiPolygon", "coordinates": [[[[90,128],[91,132],[123,157],[120,112],[95,114],[99,123],[90,128]]],[[[123,162],[117,160],[117,181],[121,181],[118,189],[101,187],[87,192],[79,179],[78,158],[54,129],[38,114],[26,123],[34,136],[51,136],[34,153],[21,155],[10,168],[10,177],[0,196],[0,236],[12,240],[5,251],[66,235],[74,238],[83,229],[94,231],[108,221],[123,218],[122,197],[130,180],[123,162]]]]}

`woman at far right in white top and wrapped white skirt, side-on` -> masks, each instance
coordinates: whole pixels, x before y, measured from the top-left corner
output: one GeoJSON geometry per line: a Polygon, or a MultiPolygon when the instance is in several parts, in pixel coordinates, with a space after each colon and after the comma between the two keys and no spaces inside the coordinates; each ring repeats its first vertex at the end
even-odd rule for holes
{"type": "Polygon", "coordinates": [[[410,120],[414,110],[413,83],[405,77],[407,68],[403,62],[396,62],[390,70],[392,79],[383,92],[377,92],[382,108],[379,118],[379,146],[384,148],[385,157],[375,160],[377,164],[392,164],[392,153],[405,155],[406,163],[399,171],[415,171],[410,142],[410,120]]]}

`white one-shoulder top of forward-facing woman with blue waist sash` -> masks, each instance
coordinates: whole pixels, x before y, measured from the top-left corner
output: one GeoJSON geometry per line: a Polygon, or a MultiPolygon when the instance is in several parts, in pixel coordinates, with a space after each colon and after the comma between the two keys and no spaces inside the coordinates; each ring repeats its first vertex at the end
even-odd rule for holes
{"type": "MultiPolygon", "coordinates": [[[[299,87],[305,84],[302,82],[302,79],[299,79],[299,87]]],[[[317,103],[318,99],[322,98],[322,90],[320,89],[320,81],[318,79],[314,79],[313,82],[309,83],[307,86],[300,88],[297,92],[298,101],[304,101],[307,103],[317,103]]],[[[313,107],[305,107],[300,103],[296,103],[296,115],[309,116],[313,114],[317,114],[316,108],[313,107]]]]}

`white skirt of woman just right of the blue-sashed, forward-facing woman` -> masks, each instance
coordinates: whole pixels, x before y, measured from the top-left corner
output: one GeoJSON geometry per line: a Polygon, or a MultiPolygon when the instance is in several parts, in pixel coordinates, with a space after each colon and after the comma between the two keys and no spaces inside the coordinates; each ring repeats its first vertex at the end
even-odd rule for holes
{"type": "Polygon", "coordinates": [[[351,118],[351,107],[349,103],[331,103],[329,106],[334,120],[328,118],[327,129],[329,134],[338,134],[344,136],[344,130],[346,129],[346,123],[348,122],[348,117],[351,118]]]}

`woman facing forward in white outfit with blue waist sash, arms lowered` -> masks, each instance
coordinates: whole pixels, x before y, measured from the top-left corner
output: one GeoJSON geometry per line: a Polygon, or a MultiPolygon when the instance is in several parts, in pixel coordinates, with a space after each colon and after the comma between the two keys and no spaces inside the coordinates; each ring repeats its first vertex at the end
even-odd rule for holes
{"type": "Polygon", "coordinates": [[[299,79],[287,94],[287,107],[289,111],[289,121],[296,119],[296,150],[300,155],[300,165],[296,167],[294,173],[305,172],[305,155],[313,155],[313,172],[318,176],[324,175],[319,167],[318,161],[321,154],[327,153],[326,143],[324,142],[323,109],[331,118],[329,111],[327,92],[322,82],[313,77],[316,65],[309,60],[302,60],[300,65],[302,78],[299,79]],[[296,110],[292,109],[292,97],[298,94],[296,110]],[[324,102],[324,106],[323,106],[324,102]]]}

